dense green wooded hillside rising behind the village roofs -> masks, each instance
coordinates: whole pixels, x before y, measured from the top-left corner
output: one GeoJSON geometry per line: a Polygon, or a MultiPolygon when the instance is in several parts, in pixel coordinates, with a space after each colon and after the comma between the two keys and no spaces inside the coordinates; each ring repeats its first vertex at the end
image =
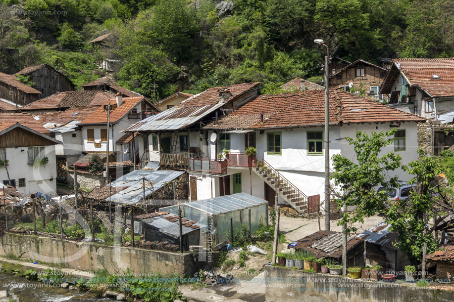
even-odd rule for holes
{"type": "Polygon", "coordinates": [[[81,85],[103,75],[101,58],[118,59],[120,85],[156,99],[320,79],[317,38],[349,61],[454,56],[451,0],[233,0],[223,14],[214,0],[0,2],[1,72],[48,63],[81,85]],[[105,30],[111,39],[92,49],[105,30]]]}

